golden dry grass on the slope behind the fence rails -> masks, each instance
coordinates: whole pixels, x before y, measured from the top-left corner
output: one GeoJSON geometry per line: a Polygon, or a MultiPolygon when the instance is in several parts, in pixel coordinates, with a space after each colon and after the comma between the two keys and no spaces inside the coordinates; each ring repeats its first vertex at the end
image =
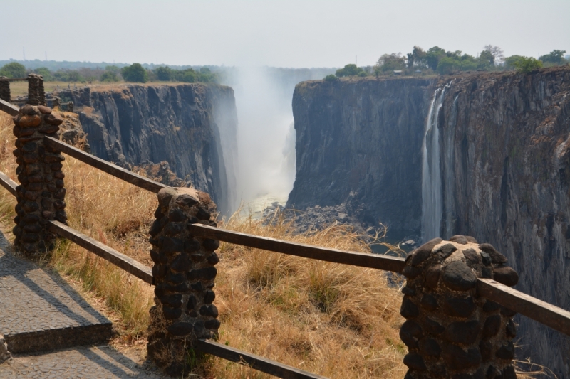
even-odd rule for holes
{"type": "MultiPolygon", "coordinates": [[[[0,112],[0,171],[14,180],[11,119],[0,112]]],[[[68,223],[151,266],[147,230],[156,196],[66,157],[68,223]]],[[[11,236],[15,199],[0,191],[0,228],[11,236]]],[[[239,213],[237,213],[239,214],[239,213]]],[[[279,215],[276,216],[279,218],[279,215]]],[[[234,218],[243,233],[369,252],[346,226],[295,235],[282,219],[263,225],[234,218]]],[[[407,348],[398,330],[402,294],[385,272],[306,260],[222,243],[216,282],[219,341],[329,378],[403,378],[407,348]]],[[[115,346],[144,349],[152,287],[77,245],[58,243],[46,264],[104,302],[118,330],[115,346]]],[[[247,366],[208,358],[204,378],[269,378],[247,366]]],[[[193,376],[196,377],[196,376],[193,376]]],[[[527,378],[520,375],[519,378],[527,378]]]]}

